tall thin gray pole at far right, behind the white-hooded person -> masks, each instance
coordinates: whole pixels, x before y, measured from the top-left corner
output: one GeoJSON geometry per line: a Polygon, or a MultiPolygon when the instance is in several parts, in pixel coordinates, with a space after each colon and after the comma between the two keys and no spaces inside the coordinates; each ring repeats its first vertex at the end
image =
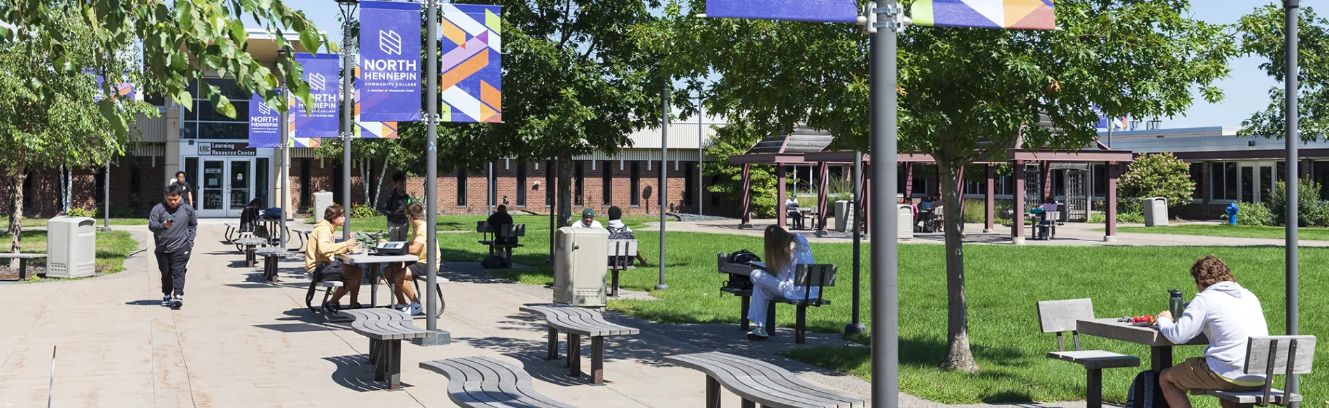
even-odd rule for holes
{"type": "MultiPolygon", "coordinates": [[[[1298,179],[1298,171],[1297,170],[1300,167],[1300,165],[1297,163],[1297,146],[1298,146],[1298,144],[1301,144],[1301,136],[1298,134],[1300,132],[1297,129],[1297,125],[1298,125],[1297,124],[1297,120],[1298,120],[1298,116],[1297,116],[1297,92],[1298,92],[1297,90],[1297,88],[1298,88],[1297,86],[1297,73],[1300,72],[1297,69],[1297,53],[1300,52],[1300,47],[1298,47],[1298,41],[1297,41],[1298,40],[1297,39],[1297,28],[1298,28],[1297,27],[1297,8],[1298,7],[1300,7],[1300,0],[1284,0],[1282,1],[1282,9],[1284,9],[1284,12],[1286,15],[1285,16],[1286,17],[1286,21],[1285,21],[1286,27],[1282,31],[1284,36],[1285,36],[1284,40],[1286,41],[1286,47],[1284,49],[1286,51],[1286,58],[1288,58],[1286,64],[1285,64],[1286,72],[1282,74],[1282,77],[1284,77],[1284,86],[1285,86],[1284,90],[1282,90],[1282,96],[1286,98],[1286,101],[1284,102],[1284,106],[1285,106],[1284,108],[1284,110],[1285,110],[1284,113],[1286,114],[1288,128],[1285,129],[1286,134],[1282,136],[1282,141],[1286,144],[1284,146],[1284,150],[1288,154],[1288,157],[1286,157],[1288,165],[1284,166],[1285,167],[1284,170],[1288,171],[1288,174],[1285,175],[1286,177],[1285,179],[1288,181],[1288,183],[1286,183],[1286,186],[1288,186],[1288,207],[1286,207],[1288,217],[1285,218],[1285,222],[1284,222],[1284,225],[1286,226],[1286,233],[1285,233],[1286,234],[1286,238],[1285,238],[1286,242],[1284,242],[1284,250],[1286,253],[1285,253],[1284,258],[1285,258],[1285,262],[1286,262],[1286,274],[1288,274],[1288,276],[1286,276],[1286,296],[1288,296],[1288,312],[1286,312],[1288,314],[1286,315],[1288,320],[1286,320],[1286,327],[1288,327],[1288,335],[1289,336],[1296,336],[1297,334],[1301,332],[1301,327],[1300,327],[1300,323],[1298,323],[1298,319],[1297,319],[1297,291],[1298,291],[1298,287],[1297,287],[1297,272],[1298,272],[1298,270],[1297,270],[1297,267],[1298,267],[1298,264],[1297,264],[1297,256],[1298,256],[1298,254],[1297,254],[1297,245],[1298,245],[1298,242],[1297,242],[1297,238],[1298,238],[1297,237],[1297,221],[1300,219],[1297,217],[1297,193],[1298,193],[1297,191],[1297,179],[1298,179]]],[[[1300,388],[1298,387],[1300,384],[1298,384],[1297,375],[1289,375],[1286,381],[1288,381],[1286,383],[1286,392],[1296,393],[1297,388],[1300,388]]],[[[1300,405],[1298,403],[1292,403],[1288,407],[1297,408],[1298,405],[1300,405]]]]}

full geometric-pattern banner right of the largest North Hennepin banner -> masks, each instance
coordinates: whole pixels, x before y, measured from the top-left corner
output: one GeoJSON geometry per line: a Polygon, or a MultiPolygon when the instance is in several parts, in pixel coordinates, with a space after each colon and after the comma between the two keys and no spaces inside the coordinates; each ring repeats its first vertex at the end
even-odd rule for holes
{"type": "Polygon", "coordinates": [[[444,122],[502,122],[501,13],[497,5],[443,4],[444,122]]]}

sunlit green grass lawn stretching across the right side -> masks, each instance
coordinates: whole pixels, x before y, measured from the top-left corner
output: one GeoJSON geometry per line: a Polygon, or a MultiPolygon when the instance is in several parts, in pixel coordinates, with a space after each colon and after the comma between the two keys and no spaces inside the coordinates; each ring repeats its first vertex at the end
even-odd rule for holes
{"type": "MultiPolygon", "coordinates": [[[[638,234],[641,253],[653,262],[659,259],[658,234],[638,234]]],[[[485,249],[474,241],[478,234],[440,234],[443,259],[478,260],[485,249]]],[[[536,233],[528,222],[526,247],[518,249],[518,263],[540,266],[529,270],[496,271],[528,284],[553,282],[548,258],[548,230],[536,233]]],[[[760,253],[756,237],[670,233],[666,283],[670,288],[655,291],[658,300],[611,300],[610,308],[663,323],[738,323],[739,300],[718,291],[724,276],[715,271],[715,254],[747,249],[760,253]]],[[[808,312],[808,327],[819,332],[841,332],[851,316],[852,246],[848,243],[813,243],[819,262],[841,266],[839,286],[827,290],[832,306],[808,312]]],[[[997,401],[1082,400],[1084,369],[1080,365],[1047,357],[1055,351],[1051,334],[1038,330],[1034,302],[1092,298],[1100,318],[1156,314],[1167,306],[1167,290],[1180,288],[1192,296],[1191,263],[1215,254],[1229,262],[1237,279],[1261,296],[1271,334],[1284,331],[1282,250],[1264,247],[1011,247],[968,246],[966,278],[970,342],[982,369],[975,375],[937,368],[945,355],[946,279],[942,246],[900,246],[900,356],[904,392],[929,400],[971,404],[997,401]]],[[[1304,249],[1302,253],[1301,332],[1324,336],[1329,319],[1316,311],[1329,307],[1329,296],[1317,283],[1324,282],[1329,250],[1304,249]]],[[[864,286],[864,322],[870,322],[867,287],[868,251],[861,264],[864,286]]],[[[657,268],[638,268],[622,274],[622,286],[651,290],[657,268]]],[[[779,307],[780,326],[793,324],[793,308],[779,307]]],[[[870,327],[869,327],[870,328],[870,327]]],[[[781,331],[776,342],[791,342],[792,331],[781,331]]],[[[1116,340],[1082,338],[1087,350],[1108,350],[1148,359],[1148,348],[1116,340]]],[[[735,332],[734,342],[747,342],[735,332]]],[[[1203,347],[1181,347],[1177,360],[1200,355],[1203,347]]],[[[800,347],[791,357],[829,367],[870,380],[869,355],[865,347],[800,347]]],[[[1302,393],[1308,401],[1329,399],[1329,354],[1320,352],[1316,373],[1304,376],[1302,393]]],[[[1104,372],[1104,396],[1123,403],[1128,381],[1138,369],[1104,372]]],[[[1201,407],[1216,407],[1212,399],[1196,399],[1201,407]]]]}

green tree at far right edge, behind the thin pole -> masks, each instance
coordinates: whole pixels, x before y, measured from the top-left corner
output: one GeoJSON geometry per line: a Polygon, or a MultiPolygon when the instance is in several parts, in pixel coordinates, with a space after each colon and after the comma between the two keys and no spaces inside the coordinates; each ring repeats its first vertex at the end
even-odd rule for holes
{"type": "MultiPolygon", "coordinates": [[[[1237,23],[1241,52],[1264,58],[1260,69],[1280,82],[1269,88],[1269,105],[1241,121],[1241,136],[1281,140],[1285,134],[1282,82],[1288,53],[1284,47],[1284,16],[1281,5],[1265,4],[1237,23]]],[[[1329,20],[1317,16],[1310,7],[1301,7],[1297,23],[1297,128],[1302,141],[1318,141],[1329,137],[1329,116],[1317,114],[1329,109],[1329,20]]]]}

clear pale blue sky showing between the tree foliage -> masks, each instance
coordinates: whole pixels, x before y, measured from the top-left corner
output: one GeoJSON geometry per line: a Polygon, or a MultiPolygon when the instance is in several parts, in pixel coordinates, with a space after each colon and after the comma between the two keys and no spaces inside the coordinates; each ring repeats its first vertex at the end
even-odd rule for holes
{"type": "MultiPolygon", "coordinates": [[[[1268,1],[1249,0],[1192,0],[1191,9],[1195,17],[1209,21],[1231,24],[1236,23],[1241,15],[1249,13],[1256,5],[1268,1]]],[[[328,37],[340,41],[342,24],[339,11],[334,0],[287,0],[286,4],[304,11],[304,15],[328,33],[328,37]]],[[[1329,0],[1302,0],[1302,7],[1329,9],[1329,0]]],[[[250,21],[253,24],[253,21],[250,21]]],[[[1241,120],[1252,113],[1264,109],[1269,104],[1268,90],[1272,86],[1281,86],[1273,78],[1260,70],[1259,58],[1241,57],[1232,61],[1232,77],[1219,84],[1225,98],[1219,104],[1205,104],[1199,96],[1199,101],[1184,116],[1175,118],[1162,118],[1163,128],[1192,128],[1192,126],[1239,126],[1241,120]]]]}

